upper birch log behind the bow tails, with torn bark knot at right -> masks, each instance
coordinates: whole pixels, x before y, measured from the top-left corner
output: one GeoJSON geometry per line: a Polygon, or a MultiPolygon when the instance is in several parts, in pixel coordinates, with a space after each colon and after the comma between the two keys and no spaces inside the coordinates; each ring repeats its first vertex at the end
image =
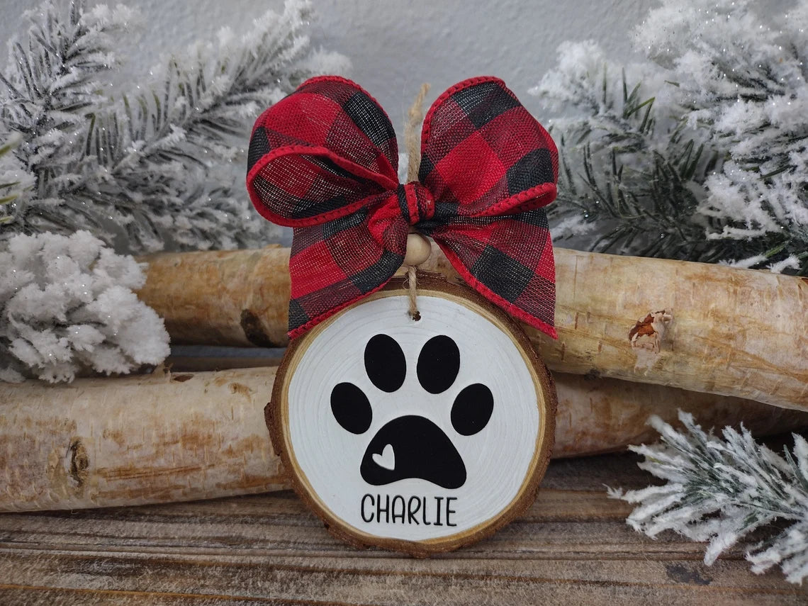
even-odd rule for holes
{"type": "MultiPolygon", "coordinates": [[[[288,255],[280,247],[156,255],[144,259],[140,296],[175,343],[283,347],[288,255]]],[[[558,341],[525,326],[551,370],[808,410],[808,279],[562,248],[555,259],[558,341]],[[636,327],[654,332],[650,320],[662,311],[672,318],[659,324],[667,335],[646,341],[659,351],[634,347],[646,339],[636,327]]],[[[459,280],[436,246],[423,268],[459,280]]]]}

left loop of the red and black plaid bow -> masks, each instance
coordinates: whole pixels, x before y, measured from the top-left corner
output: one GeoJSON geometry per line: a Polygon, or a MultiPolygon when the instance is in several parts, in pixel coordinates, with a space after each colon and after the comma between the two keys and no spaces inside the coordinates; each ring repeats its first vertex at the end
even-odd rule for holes
{"type": "Polygon", "coordinates": [[[384,110],[354,82],[311,78],[255,122],[247,191],[278,225],[344,217],[398,184],[398,143],[384,110]]]}

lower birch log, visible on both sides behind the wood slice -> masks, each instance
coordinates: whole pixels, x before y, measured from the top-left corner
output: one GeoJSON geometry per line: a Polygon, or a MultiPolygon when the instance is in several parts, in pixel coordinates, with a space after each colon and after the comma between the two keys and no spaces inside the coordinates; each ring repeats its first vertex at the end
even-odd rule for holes
{"type": "MultiPolygon", "coordinates": [[[[264,424],[275,368],[0,383],[0,511],[168,503],[286,487],[264,424]]],[[[554,457],[653,441],[677,407],[758,436],[808,413],[659,385],[557,373],[554,457]]]]}

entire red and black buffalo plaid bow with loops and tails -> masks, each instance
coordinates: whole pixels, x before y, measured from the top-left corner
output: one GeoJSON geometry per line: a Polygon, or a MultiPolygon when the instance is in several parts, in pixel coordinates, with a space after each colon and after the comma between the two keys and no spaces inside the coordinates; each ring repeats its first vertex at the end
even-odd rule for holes
{"type": "Polygon", "coordinates": [[[553,140],[497,78],[472,78],[423,122],[419,181],[398,183],[398,145],[376,99],[354,82],[304,82],[255,122],[247,189],[258,212],[294,228],[289,336],[384,286],[413,226],[463,279],[556,336],[547,216],[553,140]]]}

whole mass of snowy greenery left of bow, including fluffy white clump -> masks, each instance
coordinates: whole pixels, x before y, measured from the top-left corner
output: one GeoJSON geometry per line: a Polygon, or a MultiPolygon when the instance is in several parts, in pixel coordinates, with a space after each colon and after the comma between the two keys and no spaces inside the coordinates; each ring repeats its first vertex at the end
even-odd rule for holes
{"type": "Polygon", "coordinates": [[[303,79],[347,67],[311,48],[310,13],[287,0],[246,36],[222,32],[170,58],[119,101],[114,49],[133,11],[49,0],[25,15],[27,40],[0,77],[0,379],[69,381],[167,355],[162,321],[132,292],[141,268],[104,244],[266,242],[243,186],[249,126],[303,79]]]}

